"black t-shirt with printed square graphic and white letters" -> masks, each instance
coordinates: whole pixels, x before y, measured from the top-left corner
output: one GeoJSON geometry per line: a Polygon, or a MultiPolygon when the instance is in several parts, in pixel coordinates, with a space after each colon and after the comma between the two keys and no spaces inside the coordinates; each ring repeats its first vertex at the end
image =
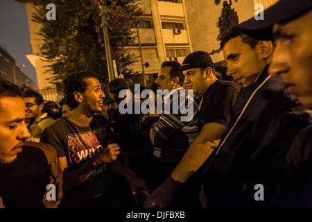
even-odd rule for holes
{"type": "MultiPolygon", "coordinates": [[[[107,145],[109,137],[107,120],[94,115],[87,127],[76,126],[67,117],[61,117],[42,134],[42,142],[51,144],[58,157],[66,157],[68,169],[79,169],[94,154],[107,145]]],[[[107,185],[105,165],[99,165],[83,184],[69,191],[73,198],[91,198],[103,194],[107,185]]]]}

